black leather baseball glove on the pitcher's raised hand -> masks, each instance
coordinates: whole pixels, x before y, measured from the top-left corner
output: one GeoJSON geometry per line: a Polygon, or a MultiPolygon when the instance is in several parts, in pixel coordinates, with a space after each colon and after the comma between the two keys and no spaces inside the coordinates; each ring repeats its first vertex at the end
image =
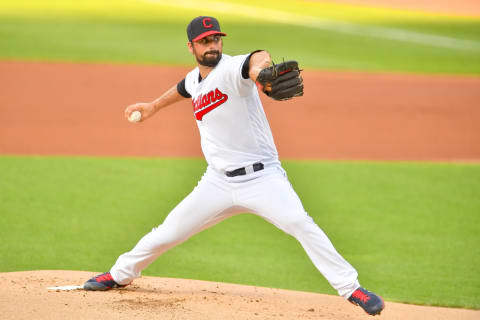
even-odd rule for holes
{"type": "Polygon", "coordinates": [[[257,76],[257,86],[275,100],[288,100],[303,95],[303,79],[298,62],[284,61],[263,69],[257,76]]]}

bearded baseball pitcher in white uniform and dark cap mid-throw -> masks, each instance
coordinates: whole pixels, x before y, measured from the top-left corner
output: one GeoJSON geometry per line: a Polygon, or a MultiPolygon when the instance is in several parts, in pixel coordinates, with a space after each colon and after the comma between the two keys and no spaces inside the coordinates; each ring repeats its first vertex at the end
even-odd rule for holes
{"type": "Polygon", "coordinates": [[[381,297],[360,287],[357,271],[335,250],[305,212],[278,159],[259,91],[275,100],[303,95],[296,61],[273,64],[268,52],[223,54],[218,21],[201,16],[187,27],[188,49],[197,67],[150,103],[137,103],[125,117],[145,121],[182,99],[191,99],[208,167],[195,189],[122,254],[109,272],[84,284],[85,290],[108,290],[130,284],[167,250],[194,234],[241,212],[252,212],[295,237],[339,295],[376,315],[381,297]]]}

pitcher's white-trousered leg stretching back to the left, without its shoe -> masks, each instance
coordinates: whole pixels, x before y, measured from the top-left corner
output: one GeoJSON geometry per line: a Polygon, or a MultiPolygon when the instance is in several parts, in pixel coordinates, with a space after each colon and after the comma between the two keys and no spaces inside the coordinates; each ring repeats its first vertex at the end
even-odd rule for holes
{"type": "Polygon", "coordinates": [[[158,228],[117,259],[110,270],[113,280],[119,285],[129,284],[162,253],[233,215],[233,210],[231,192],[211,179],[207,171],[158,228]]]}

